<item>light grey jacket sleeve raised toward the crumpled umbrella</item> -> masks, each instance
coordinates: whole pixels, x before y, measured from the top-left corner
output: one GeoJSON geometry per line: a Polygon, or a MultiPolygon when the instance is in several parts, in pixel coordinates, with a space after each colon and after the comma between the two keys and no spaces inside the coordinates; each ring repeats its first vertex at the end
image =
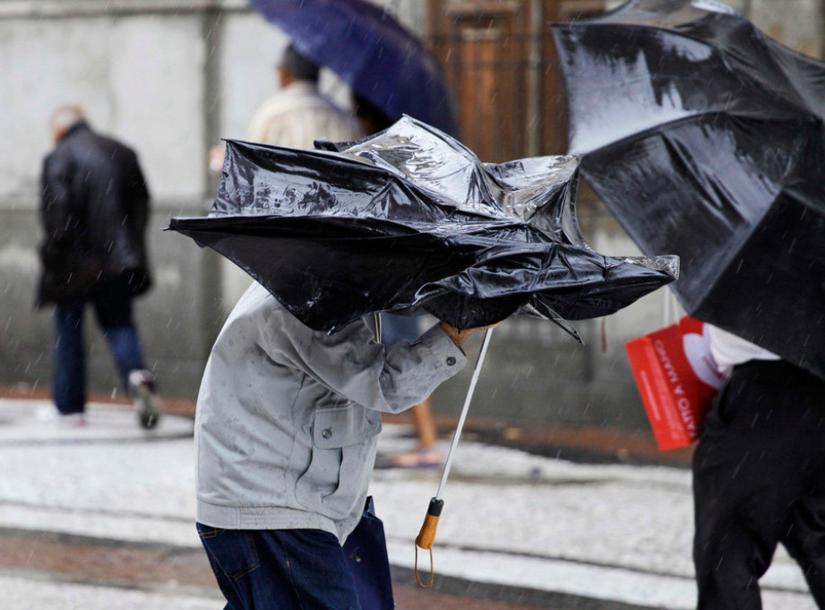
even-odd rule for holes
{"type": "Polygon", "coordinates": [[[260,330],[261,347],[276,363],[299,369],[365,408],[389,413],[425,400],[467,364],[439,324],[417,341],[389,349],[374,340],[363,320],[327,334],[308,328],[283,307],[260,330]]]}

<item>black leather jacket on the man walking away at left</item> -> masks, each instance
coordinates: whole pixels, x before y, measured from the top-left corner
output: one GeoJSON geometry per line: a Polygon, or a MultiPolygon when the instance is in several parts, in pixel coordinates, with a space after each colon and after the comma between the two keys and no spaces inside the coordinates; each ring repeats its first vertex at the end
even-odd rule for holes
{"type": "Polygon", "coordinates": [[[43,163],[40,214],[39,305],[88,296],[119,275],[133,295],[150,287],[149,191],[133,150],[74,125],[43,163]]]}

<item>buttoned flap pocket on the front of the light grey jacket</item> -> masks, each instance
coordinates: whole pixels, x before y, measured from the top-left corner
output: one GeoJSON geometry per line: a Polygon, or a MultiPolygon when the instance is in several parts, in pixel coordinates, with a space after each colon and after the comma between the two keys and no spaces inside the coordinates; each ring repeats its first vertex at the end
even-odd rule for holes
{"type": "Polygon", "coordinates": [[[312,456],[296,482],[296,500],[336,520],[360,509],[379,432],[381,414],[360,405],[316,410],[312,456]]]}

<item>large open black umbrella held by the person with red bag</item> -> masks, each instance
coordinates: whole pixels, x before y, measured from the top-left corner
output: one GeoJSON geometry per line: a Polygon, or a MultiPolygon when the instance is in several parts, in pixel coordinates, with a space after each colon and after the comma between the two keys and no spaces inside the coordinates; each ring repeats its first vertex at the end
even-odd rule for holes
{"type": "Polygon", "coordinates": [[[685,309],[825,377],[825,64],[709,0],[554,25],[582,174],[685,309]]]}

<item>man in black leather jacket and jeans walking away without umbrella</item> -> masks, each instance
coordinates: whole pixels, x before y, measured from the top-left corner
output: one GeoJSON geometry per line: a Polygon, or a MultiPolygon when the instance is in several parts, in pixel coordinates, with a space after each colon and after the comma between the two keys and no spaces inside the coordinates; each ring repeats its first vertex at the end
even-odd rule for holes
{"type": "Polygon", "coordinates": [[[144,234],[149,191],[137,156],[95,133],[82,109],[51,118],[55,149],[41,178],[38,306],[55,305],[54,395],[61,420],[85,423],[83,310],[93,305],[144,427],[157,424],[154,376],[143,365],[132,300],[150,288],[144,234]]]}

